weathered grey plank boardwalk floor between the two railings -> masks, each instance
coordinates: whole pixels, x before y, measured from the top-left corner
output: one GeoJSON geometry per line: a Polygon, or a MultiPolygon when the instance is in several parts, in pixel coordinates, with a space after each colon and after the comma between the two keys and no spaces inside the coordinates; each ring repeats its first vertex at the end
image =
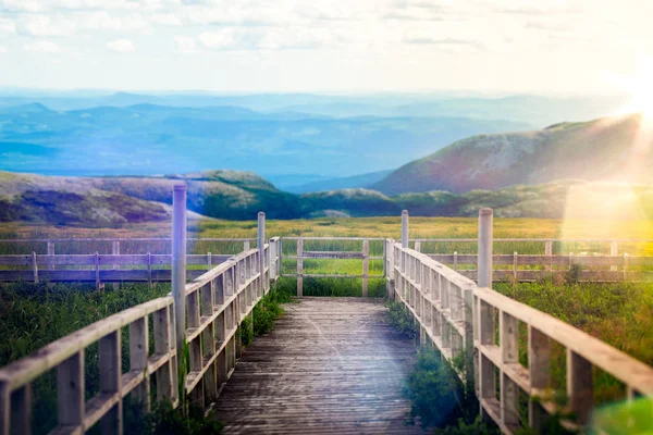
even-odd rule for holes
{"type": "MultiPolygon", "coordinates": [[[[373,299],[301,298],[255,339],[215,403],[226,434],[424,434],[406,425],[412,344],[373,299]]],[[[255,319],[256,322],[256,319],[255,319]]]]}

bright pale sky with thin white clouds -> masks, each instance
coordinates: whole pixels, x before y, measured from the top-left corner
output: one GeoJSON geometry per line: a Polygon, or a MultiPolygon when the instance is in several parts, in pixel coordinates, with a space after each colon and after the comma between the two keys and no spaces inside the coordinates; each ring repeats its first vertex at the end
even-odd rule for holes
{"type": "Polygon", "coordinates": [[[0,86],[609,94],[648,0],[0,0],[0,86]]]}

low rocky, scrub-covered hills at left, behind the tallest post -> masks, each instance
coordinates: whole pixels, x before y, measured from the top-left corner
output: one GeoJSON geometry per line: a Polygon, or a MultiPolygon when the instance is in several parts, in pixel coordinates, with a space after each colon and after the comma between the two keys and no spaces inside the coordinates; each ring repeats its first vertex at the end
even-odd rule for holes
{"type": "Polygon", "coordinates": [[[59,177],[0,172],[0,219],[112,226],[170,219],[172,188],[183,179],[188,209],[223,219],[299,215],[298,198],[252,173],[207,171],[160,177],[59,177]]]}

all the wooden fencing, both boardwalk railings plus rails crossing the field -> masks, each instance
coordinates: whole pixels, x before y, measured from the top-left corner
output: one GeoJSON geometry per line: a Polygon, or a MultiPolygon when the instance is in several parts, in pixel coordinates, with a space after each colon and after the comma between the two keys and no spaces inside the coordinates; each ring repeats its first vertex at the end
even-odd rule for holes
{"type": "MultiPolygon", "coordinates": [[[[636,273],[645,273],[631,268],[651,266],[652,258],[617,256],[614,240],[611,240],[611,256],[603,257],[554,256],[550,245],[552,239],[537,239],[546,244],[544,256],[492,254],[491,210],[481,211],[479,238],[469,239],[478,243],[478,254],[427,254],[419,251],[419,245],[414,245],[417,249],[409,247],[407,212],[403,213],[402,222],[401,244],[392,239],[365,237],[273,237],[266,244],[264,215],[259,213],[257,248],[244,245],[243,252],[231,257],[185,256],[185,249],[180,248],[186,245],[183,238],[175,239],[173,256],[44,256],[34,252],[29,256],[1,256],[0,265],[27,270],[5,270],[0,272],[0,276],[17,273],[35,282],[56,277],[57,274],[71,276],[74,273],[88,274],[88,281],[96,283],[130,274],[134,279],[145,281],[146,274],[149,281],[162,279],[163,276],[178,279],[180,263],[183,263],[184,271],[186,263],[207,264],[209,270],[188,271],[199,276],[192,275],[193,281],[181,285],[181,289],[173,281],[173,296],[109,316],[0,369],[0,435],[14,431],[29,433],[32,383],[54,369],[58,433],[83,433],[98,421],[104,433],[122,433],[124,397],[135,395],[147,411],[151,376],[155,377],[158,400],[170,399],[176,406],[187,396],[196,405],[205,407],[215,399],[220,386],[235,368],[241,351],[236,339],[238,325],[245,316],[251,315],[270,284],[281,276],[282,260],[286,259],[297,261],[297,273],[283,276],[296,276],[298,296],[303,294],[304,277],[362,278],[362,294],[367,296],[368,279],[385,276],[389,297],[401,301],[417,322],[420,344],[438,348],[449,360],[464,358],[465,370],[458,372],[461,381],[473,384],[481,412],[504,433],[512,434],[523,425],[541,431],[543,418],[555,411],[550,376],[554,343],[566,349],[568,410],[578,417],[580,425],[588,422],[593,407],[593,366],[624,383],[629,399],[639,395],[653,396],[653,368],[569,324],[491,289],[493,277],[513,276],[530,281],[565,273],[571,264],[605,268],[584,271],[587,277],[631,279],[636,273]],[[296,241],[295,256],[282,254],[284,239],[296,241]],[[319,241],[350,241],[360,246],[360,250],[305,250],[307,240],[316,245],[319,241]],[[383,257],[370,256],[370,241],[380,240],[383,240],[383,257]],[[304,273],[304,260],[356,260],[362,263],[361,273],[304,273]],[[383,260],[383,275],[369,274],[370,260],[383,260]],[[152,269],[152,265],[168,264],[172,264],[172,272],[152,269]],[[76,265],[93,269],[53,270],[76,265]],[[465,269],[466,265],[473,265],[476,270],[465,269]],[[494,265],[497,270],[493,270],[494,265]],[[132,266],[143,269],[126,269],[132,266]],[[155,335],[151,351],[148,337],[150,318],[155,335]],[[519,361],[520,326],[528,332],[528,366],[519,361]],[[121,334],[125,327],[128,328],[130,368],[123,373],[121,334]],[[86,400],[84,355],[95,343],[99,343],[100,390],[86,400]],[[188,347],[187,365],[180,362],[182,344],[188,347]],[[519,420],[520,391],[528,396],[528,422],[519,420]]],[[[173,227],[178,222],[175,221],[173,227]]],[[[418,239],[417,244],[420,240],[424,239],[418,239]]]]}

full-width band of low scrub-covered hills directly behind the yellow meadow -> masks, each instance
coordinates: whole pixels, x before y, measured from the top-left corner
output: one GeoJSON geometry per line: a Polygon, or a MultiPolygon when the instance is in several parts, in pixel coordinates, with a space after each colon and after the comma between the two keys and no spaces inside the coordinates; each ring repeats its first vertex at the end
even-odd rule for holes
{"type": "MultiPolygon", "coordinates": [[[[170,219],[172,187],[188,187],[188,209],[201,215],[247,220],[399,215],[475,216],[492,207],[500,217],[646,220],[653,216],[653,187],[563,179],[495,190],[445,190],[385,196],[341,189],[301,196],[276,189],[251,173],[211,171],[168,177],[54,178],[2,173],[0,222],[118,227],[170,219]],[[74,186],[74,187],[71,187],[74,186]]],[[[193,215],[195,216],[195,215],[193,215]]]]}

